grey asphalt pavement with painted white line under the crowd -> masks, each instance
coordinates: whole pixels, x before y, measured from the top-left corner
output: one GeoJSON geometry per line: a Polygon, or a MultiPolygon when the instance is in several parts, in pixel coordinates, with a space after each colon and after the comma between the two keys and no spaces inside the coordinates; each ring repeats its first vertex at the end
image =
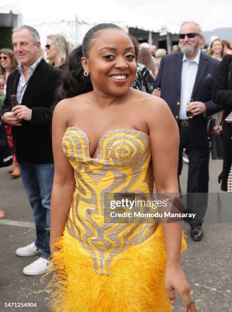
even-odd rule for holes
{"type": "MultiPolygon", "coordinates": [[[[221,192],[217,183],[221,167],[222,161],[210,162],[211,193],[221,192]]],[[[22,273],[23,267],[38,256],[15,255],[18,247],[34,241],[35,228],[21,179],[11,179],[8,170],[0,169],[0,209],[7,213],[6,219],[0,220],[0,311],[46,312],[49,311],[49,294],[45,286],[49,278],[40,280],[41,276],[25,276],[22,273]],[[20,303],[29,307],[17,307],[20,303]]],[[[187,171],[188,165],[184,164],[181,176],[183,192],[186,192],[187,171]]],[[[226,207],[228,220],[232,215],[230,199],[226,207]]],[[[185,229],[190,236],[189,226],[185,225],[185,229]]],[[[201,242],[193,242],[190,237],[187,239],[188,250],[182,257],[183,267],[194,291],[198,312],[229,312],[232,311],[232,224],[205,223],[203,229],[201,242]]],[[[173,311],[184,311],[179,299],[173,311]]]]}

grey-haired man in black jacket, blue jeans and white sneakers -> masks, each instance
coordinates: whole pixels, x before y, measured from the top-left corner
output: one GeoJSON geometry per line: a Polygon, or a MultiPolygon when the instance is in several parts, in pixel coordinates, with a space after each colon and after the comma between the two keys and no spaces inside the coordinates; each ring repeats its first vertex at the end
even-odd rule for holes
{"type": "Polygon", "coordinates": [[[25,275],[38,275],[46,272],[50,255],[50,195],[54,176],[50,109],[60,70],[40,57],[40,37],[34,28],[24,25],[15,29],[12,40],[19,66],[8,77],[0,118],[12,125],[16,159],[36,225],[35,242],[18,248],[16,254],[41,253],[39,259],[23,269],[25,275]]]}

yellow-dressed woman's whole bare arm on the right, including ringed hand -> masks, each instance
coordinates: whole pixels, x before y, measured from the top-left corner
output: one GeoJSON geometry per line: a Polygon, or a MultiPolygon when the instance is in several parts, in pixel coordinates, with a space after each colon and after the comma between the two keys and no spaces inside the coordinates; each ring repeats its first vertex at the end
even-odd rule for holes
{"type": "MultiPolygon", "coordinates": [[[[166,102],[161,98],[155,97],[150,103],[148,111],[146,120],[151,141],[153,176],[157,193],[167,193],[167,195],[172,193],[178,196],[179,131],[177,123],[166,102]]],[[[191,290],[181,267],[183,224],[182,222],[173,222],[162,225],[167,253],[165,286],[168,297],[174,303],[174,289],[182,298],[185,311],[195,311],[195,305],[190,304],[191,290]]]]}

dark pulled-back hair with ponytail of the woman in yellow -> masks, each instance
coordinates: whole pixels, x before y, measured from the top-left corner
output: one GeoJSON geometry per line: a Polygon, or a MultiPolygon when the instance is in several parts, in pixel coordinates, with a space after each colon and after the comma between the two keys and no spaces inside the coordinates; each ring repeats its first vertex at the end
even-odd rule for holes
{"type": "Polygon", "coordinates": [[[57,88],[55,104],[64,98],[73,97],[93,90],[90,76],[83,75],[81,59],[89,58],[89,50],[93,39],[99,36],[99,32],[106,29],[122,31],[120,27],[112,23],[101,23],[92,27],[85,35],[82,45],[75,48],[64,66],[61,84],[57,88]]]}

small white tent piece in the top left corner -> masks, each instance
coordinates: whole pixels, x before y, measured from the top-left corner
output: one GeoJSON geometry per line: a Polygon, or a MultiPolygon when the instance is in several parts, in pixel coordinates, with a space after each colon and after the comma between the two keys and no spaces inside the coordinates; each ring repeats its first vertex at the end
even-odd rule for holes
{"type": "Polygon", "coordinates": [[[0,1],[0,27],[18,27],[22,24],[22,12],[16,2],[0,1]]]}

